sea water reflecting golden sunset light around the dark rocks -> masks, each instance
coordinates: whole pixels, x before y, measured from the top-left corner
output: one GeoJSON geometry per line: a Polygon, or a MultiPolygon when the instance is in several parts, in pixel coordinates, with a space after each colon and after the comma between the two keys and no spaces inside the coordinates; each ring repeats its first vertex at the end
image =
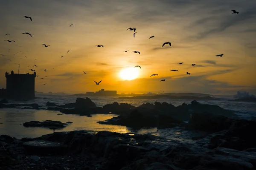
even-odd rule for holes
{"type": "MultiPolygon", "coordinates": [[[[36,99],[29,101],[11,101],[10,103],[20,103],[20,104],[32,104],[37,103],[42,107],[46,107],[46,103],[54,102],[57,105],[64,105],[66,103],[76,102],[76,98],[81,96],[74,96],[72,94],[36,94],[36,99]]],[[[85,98],[85,97],[84,97],[85,98]]],[[[118,103],[129,103],[134,106],[139,106],[143,103],[149,102],[167,102],[172,105],[178,106],[182,103],[189,104],[191,100],[183,99],[118,99],[118,97],[113,96],[90,96],[89,97],[96,106],[104,106],[108,103],[118,102],[118,103]]],[[[252,116],[256,116],[256,103],[253,102],[230,102],[228,98],[222,98],[221,100],[198,100],[201,104],[218,105],[221,108],[236,111],[241,119],[251,119],[252,116]]],[[[23,137],[39,137],[44,134],[59,132],[59,131],[72,131],[72,130],[92,130],[92,131],[102,131],[108,130],[118,133],[151,133],[156,136],[163,136],[169,139],[176,139],[179,141],[188,141],[187,136],[184,131],[181,131],[178,127],[172,129],[157,130],[157,128],[143,128],[143,129],[132,129],[125,126],[118,125],[101,125],[98,121],[104,121],[110,119],[113,116],[111,114],[93,114],[92,117],[79,116],[63,114],[57,115],[58,111],[48,111],[48,110],[28,110],[28,109],[18,109],[18,108],[1,108],[0,109],[0,135],[5,134],[17,139],[23,137]],[[61,122],[73,122],[64,129],[61,130],[50,130],[41,127],[24,127],[22,124],[29,121],[43,121],[43,120],[56,120],[61,122]]]]}

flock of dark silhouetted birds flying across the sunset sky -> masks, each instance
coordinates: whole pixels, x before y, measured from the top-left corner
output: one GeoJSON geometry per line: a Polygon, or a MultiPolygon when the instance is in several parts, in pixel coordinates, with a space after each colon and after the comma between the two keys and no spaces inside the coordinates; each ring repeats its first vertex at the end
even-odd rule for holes
{"type": "MultiPolygon", "coordinates": [[[[231,10],[231,11],[233,11],[233,13],[232,14],[239,14],[239,12],[237,12],[236,10],[231,10]]],[[[31,21],[32,21],[32,17],[28,17],[28,16],[23,16],[23,17],[25,17],[26,19],[30,19],[31,21]]],[[[23,18],[22,17],[22,18],[23,18]]],[[[73,26],[73,24],[70,24],[70,27],[71,26],[73,26]]],[[[134,31],[134,33],[133,33],[133,37],[135,38],[135,34],[137,33],[137,32],[135,32],[136,31],[136,28],[128,28],[127,30],[129,30],[129,31],[134,31]]],[[[32,35],[29,33],[29,32],[24,32],[24,33],[22,33],[22,34],[27,34],[27,35],[29,35],[29,36],[31,36],[32,37],[32,35]]],[[[7,33],[7,34],[5,34],[5,36],[10,36],[10,34],[9,33],[7,33]]],[[[154,38],[154,36],[151,36],[151,37],[149,37],[148,39],[151,39],[151,38],[154,38]]],[[[8,42],[16,42],[15,40],[4,40],[4,41],[8,41],[8,42]]],[[[41,44],[41,45],[44,45],[44,47],[45,48],[47,48],[47,47],[49,47],[50,45],[46,45],[46,44],[41,44]]],[[[172,44],[171,44],[171,42],[164,42],[163,43],[163,45],[162,45],[162,47],[164,46],[164,45],[169,45],[170,47],[172,46],[172,44]]],[[[96,47],[104,47],[103,45],[95,45],[96,47]]],[[[69,52],[70,50],[68,50],[67,51],[67,53],[69,52]]],[[[123,52],[128,52],[129,50],[126,50],[126,51],[123,51],[123,52]]],[[[138,53],[138,54],[140,54],[140,51],[132,51],[132,52],[134,52],[134,53],[138,53]]],[[[2,55],[2,56],[6,56],[6,54],[0,54],[0,55],[2,55]]],[[[15,55],[15,54],[14,54],[15,55]]],[[[224,54],[218,54],[218,55],[215,55],[216,57],[222,57],[224,54]]],[[[26,56],[25,56],[26,57],[26,56]]],[[[64,57],[64,56],[61,56],[61,58],[62,57],[64,57]]],[[[182,64],[184,64],[184,62],[178,62],[177,63],[178,65],[182,65],[182,64]]],[[[195,66],[196,64],[192,64],[192,66],[195,66]]],[[[29,66],[28,66],[29,67],[29,66]]],[[[33,66],[33,68],[34,67],[38,67],[37,65],[34,65],[33,66]]],[[[141,66],[140,65],[136,65],[134,68],[136,68],[136,67],[139,67],[139,68],[141,68],[141,66]]],[[[54,69],[54,68],[53,68],[54,69]]],[[[35,69],[29,69],[29,70],[31,70],[31,71],[35,71],[35,69]]],[[[47,70],[46,69],[44,69],[44,71],[46,72],[47,70]]],[[[170,70],[170,71],[178,71],[178,70],[175,70],[175,69],[173,69],[173,70],[170,70]]],[[[87,73],[85,73],[84,71],[83,71],[83,73],[84,74],[87,74],[87,73]]],[[[185,71],[185,73],[186,74],[188,74],[188,75],[190,75],[190,73],[189,72],[187,72],[187,71],[185,71]]],[[[39,75],[36,75],[36,77],[38,77],[39,75]]],[[[152,77],[152,76],[158,76],[158,74],[152,74],[150,77],[152,77]]],[[[45,76],[45,77],[47,77],[47,76],[45,76]]],[[[44,79],[44,78],[40,78],[40,79],[44,79]]],[[[160,80],[160,82],[165,82],[165,79],[161,79],[160,80]]],[[[96,82],[96,81],[94,81],[95,83],[96,83],[96,85],[99,85],[99,83],[100,82],[102,82],[102,80],[100,80],[99,82],[96,82]]],[[[43,84],[43,85],[46,85],[46,84],[43,84]]]]}

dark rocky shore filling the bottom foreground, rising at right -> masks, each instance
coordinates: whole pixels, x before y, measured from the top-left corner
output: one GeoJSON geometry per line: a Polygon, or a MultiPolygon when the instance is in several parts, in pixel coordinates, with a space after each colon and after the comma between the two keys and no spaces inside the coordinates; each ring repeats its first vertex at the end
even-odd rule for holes
{"type": "Polygon", "coordinates": [[[38,138],[0,136],[1,170],[255,170],[256,122],[193,113],[179,142],[151,134],[55,132],[38,138]],[[202,121],[204,120],[204,121],[202,121]],[[191,140],[190,139],[190,140],[191,140]]]}

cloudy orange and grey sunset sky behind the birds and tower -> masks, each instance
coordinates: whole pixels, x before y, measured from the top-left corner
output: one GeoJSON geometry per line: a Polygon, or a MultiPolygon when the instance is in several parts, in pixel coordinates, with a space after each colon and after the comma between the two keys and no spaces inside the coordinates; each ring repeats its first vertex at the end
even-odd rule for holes
{"type": "Polygon", "coordinates": [[[2,0],[0,88],[20,64],[21,74],[36,70],[35,90],[46,93],[256,94],[255,9],[255,0],[2,0]],[[122,79],[125,68],[138,77],[122,79]]]}

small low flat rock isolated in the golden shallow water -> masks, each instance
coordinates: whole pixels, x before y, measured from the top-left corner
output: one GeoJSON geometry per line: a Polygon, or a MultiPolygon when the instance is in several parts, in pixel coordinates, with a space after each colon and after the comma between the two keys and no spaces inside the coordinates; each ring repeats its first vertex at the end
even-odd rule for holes
{"type": "Polygon", "coordinates": [[[44,120],[42,122],[39,121],[30,121],[23,123],[25,127],[47,127],[49,129],[62,129],[68,125],[67,123],[62,123],[60,121],[53,120],[44,120]]]}

